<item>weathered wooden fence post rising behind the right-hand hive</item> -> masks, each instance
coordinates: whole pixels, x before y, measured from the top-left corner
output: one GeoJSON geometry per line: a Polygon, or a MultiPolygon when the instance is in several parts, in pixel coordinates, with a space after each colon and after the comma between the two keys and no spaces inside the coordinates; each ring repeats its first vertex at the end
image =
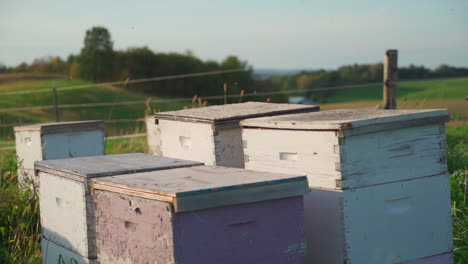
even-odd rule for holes
{"type": "Polygon", "coordinates": [[[398,50],[386,50],[384,60],[383,108],[396,109],[396,84],[398,80],[398,50]]]}

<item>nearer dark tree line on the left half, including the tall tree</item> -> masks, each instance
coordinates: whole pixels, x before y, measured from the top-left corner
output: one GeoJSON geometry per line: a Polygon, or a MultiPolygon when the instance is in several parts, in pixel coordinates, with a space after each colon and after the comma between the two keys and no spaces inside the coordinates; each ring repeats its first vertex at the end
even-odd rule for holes
{"type": "Polygon", "coordinates": [[[0,73],[60,74],[68,78],[92,82],[124,81],[230,69],[244,69],[245,71],[132,84],[126,88],[156,95],[181,97],[195,94],[221,95],[224,83],[228,85],[231,92],[253,91],[254,78],[252,67],[236,56],[227,56],[224,60],[217,62],[201,60],[191,51],[157,53],[148,47],[114,50],[110,32],[104,27],[93,27],[87,30],[80,53],[71,54],[66,60],[60,57],[44,57],[35,59],[31,64],[21,63],[11,68],[0,65],[0,73]]]}

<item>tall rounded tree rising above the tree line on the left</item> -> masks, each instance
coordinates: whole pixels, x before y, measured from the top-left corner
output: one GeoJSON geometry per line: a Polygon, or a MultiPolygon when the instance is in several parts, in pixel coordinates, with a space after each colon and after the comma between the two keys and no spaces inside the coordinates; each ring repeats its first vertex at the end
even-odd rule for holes
{"type": "Polygon", "coordinates": [[[109,31],[104,27],[93,27],[86,31],[84,47],[78,57],[78,72],[88,80],[108,80],[112,77],[113,57],[109,31]]]}

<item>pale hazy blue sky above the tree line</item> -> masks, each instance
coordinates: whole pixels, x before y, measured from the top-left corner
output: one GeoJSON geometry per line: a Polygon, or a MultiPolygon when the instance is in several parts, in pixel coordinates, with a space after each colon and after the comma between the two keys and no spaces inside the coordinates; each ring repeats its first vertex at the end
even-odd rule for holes
{"type": "Polygon", "coordinates": [[[382,62],[468,67],[467,0],[0,0],[0,63],[78,54],[87,29],[114,49],[236,55],[254,68],[332,69],[382,62]]]}

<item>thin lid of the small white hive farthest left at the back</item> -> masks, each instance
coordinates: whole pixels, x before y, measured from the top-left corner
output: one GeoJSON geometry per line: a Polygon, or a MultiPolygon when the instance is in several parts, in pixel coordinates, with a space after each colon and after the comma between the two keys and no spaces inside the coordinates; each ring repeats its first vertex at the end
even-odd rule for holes
{"type": "Polygon", "coordinates": [[[17,126],[14,128],[17,131],[40,131],[41,134],[67,133],[89,130],[104,130],[104,121],[89,120],[89,121],[73,121],[73,122],[58,122],[44,123],[26,126],[17,126]]]}

